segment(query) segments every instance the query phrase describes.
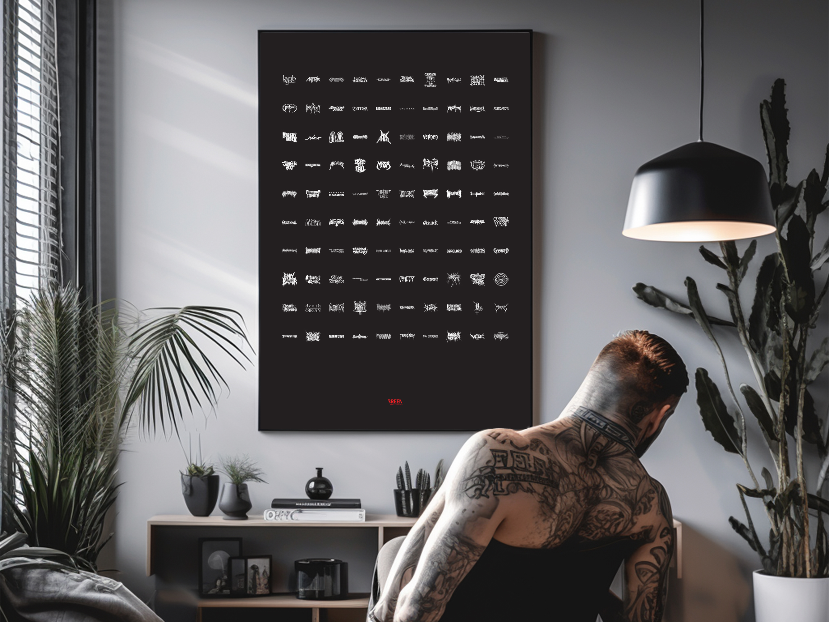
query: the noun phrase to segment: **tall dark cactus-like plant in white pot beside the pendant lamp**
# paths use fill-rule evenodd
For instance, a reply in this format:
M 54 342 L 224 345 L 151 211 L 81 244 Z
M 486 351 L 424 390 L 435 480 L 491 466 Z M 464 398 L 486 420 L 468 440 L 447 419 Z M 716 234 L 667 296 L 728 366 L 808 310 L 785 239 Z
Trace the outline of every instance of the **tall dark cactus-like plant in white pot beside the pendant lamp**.
M 797 186 L 789 184 L 785 106 L 785 83 L 777 80 L 770 100 L 760 104 L 777 220 L 777 251 L 760 265 L 748 315 L 740 285 L 754 258 L 756 241 L 742 255 L 733 241 L 721 242 L 719 255 L 700 247 L 703 259 L 725 273 L 727 283 L 716 287 L 728 300 L 730 320 L 706 313 L 691 277 L 685 281 L 687 303 L 642 283 L 633 290 L 653 307 L 696 320 L 719 357 L 725 397 L 700 367 L 696 370 L 696 401 L 705 429 L 723 449 L 743 459 L 749 474 L 750 484 L 737 484 L 745 522 L 734 517 L 729 522 L 762 562 L 762 570 L 754 573 L 758 622 L 825 622 L 829 611 L 829 430 L 826 415 L 816 411 L 809 386 L 826 370 L 829 338 L 817 347 L 809 338 L 829 289 L 829 279 L 819 274 L 829 260 L 829 240 L 820 250 L 814 248 L 817 218 L 829 207 L 829 148 L 821 174 L 813 169 Z M 754 385 L 739 385 L 742 400 L 734 391 L 728 362 L 716 338 L 720 328 L 714 327 L 736 333 L 748 357 Z M 773 472 L 764 466 L 759 477 L 749 463 L 751 419 L 773 464 Z M 806 464 L 820 466 L 807 473 Z M 768 540 L 761 537 L 762 529 L 752 518 L 750 499 L 759 502 L 768 520 Z

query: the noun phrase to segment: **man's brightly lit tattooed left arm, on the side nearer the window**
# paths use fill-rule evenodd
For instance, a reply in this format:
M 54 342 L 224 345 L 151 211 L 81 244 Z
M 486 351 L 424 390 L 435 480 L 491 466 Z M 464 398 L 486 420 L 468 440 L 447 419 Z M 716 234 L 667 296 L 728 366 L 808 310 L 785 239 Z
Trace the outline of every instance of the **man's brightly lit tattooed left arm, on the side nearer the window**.
M 411 581 L 400 589 L 394 622 L 439 620 L 454 590 L 478 561 L 502 521 L 504 513 L 499 499 L 491 491 L 481 493 L 476 484 L 481 470 L 492 467 L 489 445 L 494 442 L 486 433 L 479 432 L 458 452 L 442 488 L 443 511 L 426 538 L 419 559 L 414 560 Z M 410 568 L 412 561 L 402 561 L 402 554 L 403 551 L 395 559 L 394 576 L 390 577 L 395 583 L 404 578 L 405 567 Z M 375 618 L 391 622 L 389 617 L 375 614 Z

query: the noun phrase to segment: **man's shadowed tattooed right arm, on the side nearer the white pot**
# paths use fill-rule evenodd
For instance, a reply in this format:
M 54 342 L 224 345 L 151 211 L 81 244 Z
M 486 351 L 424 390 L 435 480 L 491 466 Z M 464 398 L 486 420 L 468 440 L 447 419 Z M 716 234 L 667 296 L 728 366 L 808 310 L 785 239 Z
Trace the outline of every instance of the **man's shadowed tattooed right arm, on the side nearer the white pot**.
M 654 480 L 659 499 L 654 508 L 652 537 L 625 562 L 624 615 L 630 622 L 660 622 L 665 612 L 668 566 L 674 550 L 671 503 Z

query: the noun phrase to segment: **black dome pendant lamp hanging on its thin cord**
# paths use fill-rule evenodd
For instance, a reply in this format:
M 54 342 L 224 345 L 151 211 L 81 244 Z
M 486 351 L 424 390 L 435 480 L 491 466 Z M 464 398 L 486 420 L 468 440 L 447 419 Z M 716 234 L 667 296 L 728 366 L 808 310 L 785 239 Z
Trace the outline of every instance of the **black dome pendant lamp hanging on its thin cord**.
M 700 0 L 700 139 L 642 164 L 633 177 L 623 236 L 713 242 L 776 231 L 768 181 L 754 158 L 702 140 L 704 0 Z

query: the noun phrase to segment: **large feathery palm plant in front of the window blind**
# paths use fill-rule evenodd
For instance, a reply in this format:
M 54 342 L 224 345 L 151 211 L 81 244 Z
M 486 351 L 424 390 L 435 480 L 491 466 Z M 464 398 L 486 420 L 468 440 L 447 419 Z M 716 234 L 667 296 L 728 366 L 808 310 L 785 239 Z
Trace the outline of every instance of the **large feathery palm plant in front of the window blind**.
M 131 328 L 117 311 L 90 307 L 74 286 L 32 294 L 5 331 L 4 388 L 16 396 L 17 493 L 4 491 L 33 547 L 95 570 L 109 537 L 120 444 L 133 415 L 140 430 L 178 435 L 185 411 L 216 405 L 227 386 L 196 336 L 243 366 L 250 345 L 231 309 L 157 309 Z M 111 534 L 110 534 L 111 537 Z

